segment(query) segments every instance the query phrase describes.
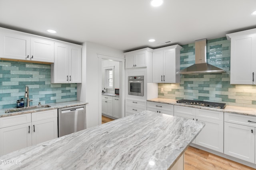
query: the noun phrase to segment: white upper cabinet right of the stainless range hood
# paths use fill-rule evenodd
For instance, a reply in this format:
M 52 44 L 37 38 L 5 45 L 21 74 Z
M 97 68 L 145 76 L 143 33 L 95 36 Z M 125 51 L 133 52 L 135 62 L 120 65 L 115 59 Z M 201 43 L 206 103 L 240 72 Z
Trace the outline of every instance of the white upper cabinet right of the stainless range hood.
M 256 84 L 256 29 L 230 33 L 230 84 Z

